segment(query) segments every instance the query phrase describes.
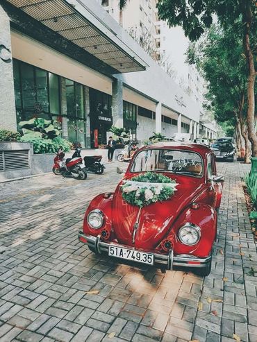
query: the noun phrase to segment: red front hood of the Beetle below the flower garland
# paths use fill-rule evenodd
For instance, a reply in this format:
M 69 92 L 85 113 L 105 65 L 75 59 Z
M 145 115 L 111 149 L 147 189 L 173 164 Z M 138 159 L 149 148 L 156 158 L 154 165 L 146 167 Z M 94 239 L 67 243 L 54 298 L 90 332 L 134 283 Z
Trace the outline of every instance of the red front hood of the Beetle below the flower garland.
M 146 207 L 130 205 L 122 198 L 122 182 L 117 186 L 113 196 L 113 230 L 117 241 L 135 248 L 156 248 L 172 227 L 172 223 L 179 214 L 204 189 L 199 178 L 176 177 L 175 194 L 163 202 L 153 203 Z M 138 212 L 140 214 L 138 215 Z M 138 217 L 138 228 L 135 234 L 135 243 L 132 242 L 133 230 Z

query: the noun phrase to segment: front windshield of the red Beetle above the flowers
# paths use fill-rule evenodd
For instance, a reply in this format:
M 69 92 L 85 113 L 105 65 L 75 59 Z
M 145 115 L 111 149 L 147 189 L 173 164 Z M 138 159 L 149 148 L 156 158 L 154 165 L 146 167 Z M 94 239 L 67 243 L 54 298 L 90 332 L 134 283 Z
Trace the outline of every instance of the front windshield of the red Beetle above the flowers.
M 199 154 L 163 148 L 141 151 L 131 164 L 131 172 L 163 171 L 201 177 L 203 170 L 203 161 Z

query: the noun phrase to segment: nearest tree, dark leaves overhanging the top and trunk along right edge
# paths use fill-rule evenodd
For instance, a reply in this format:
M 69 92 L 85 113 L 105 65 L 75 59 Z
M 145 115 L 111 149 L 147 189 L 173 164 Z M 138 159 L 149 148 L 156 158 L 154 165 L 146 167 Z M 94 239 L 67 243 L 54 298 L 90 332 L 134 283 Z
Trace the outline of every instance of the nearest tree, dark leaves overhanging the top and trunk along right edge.
M 247 65 L 247 126 L 251 141 L 252 154 L 257 157 L 257 135 L 255 127 L 254 83 L 256 69 L 257 23 L 254 13 L 256 2 L 253 0 L 159 0 L 158 16 L 167 20 L 169 26 L 182 26 L 187 37 L 193 42 L 199 40 L 206 28 L 217 16 L 223 28 L 240 21 L 242 33 L 241 46 Z

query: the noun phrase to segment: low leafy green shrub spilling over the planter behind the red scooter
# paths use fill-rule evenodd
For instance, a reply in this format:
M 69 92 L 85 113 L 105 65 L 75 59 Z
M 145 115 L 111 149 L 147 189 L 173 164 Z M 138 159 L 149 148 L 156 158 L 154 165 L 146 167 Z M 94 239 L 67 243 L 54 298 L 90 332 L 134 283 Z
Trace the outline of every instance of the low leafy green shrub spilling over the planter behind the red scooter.
M 55 153 L 59 148 L 63 148 L 64 152 L 69 152 L 72 144 L 66 139 L 56 137 L 54 139 L 43 139 L 42 137 L 21 137 L 22 142 L 31 142 L 33 144 L 34 153 Z

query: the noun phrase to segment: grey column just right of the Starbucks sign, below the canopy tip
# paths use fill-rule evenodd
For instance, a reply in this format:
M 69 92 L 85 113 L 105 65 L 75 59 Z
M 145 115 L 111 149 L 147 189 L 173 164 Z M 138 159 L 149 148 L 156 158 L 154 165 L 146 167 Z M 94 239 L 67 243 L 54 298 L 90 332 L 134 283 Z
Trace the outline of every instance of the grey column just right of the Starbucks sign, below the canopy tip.
M 122 80 L 113 80 L 113 126 L 123 128 L 123 84 Z

